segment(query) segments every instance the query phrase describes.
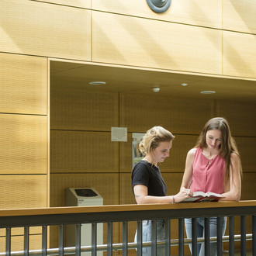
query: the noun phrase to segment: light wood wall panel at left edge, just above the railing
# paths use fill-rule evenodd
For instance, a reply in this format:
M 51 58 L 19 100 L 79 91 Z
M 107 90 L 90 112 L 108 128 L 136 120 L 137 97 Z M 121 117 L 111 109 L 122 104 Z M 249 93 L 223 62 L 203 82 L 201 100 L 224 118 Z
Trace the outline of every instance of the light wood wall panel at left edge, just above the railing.
M 47 175 L 0 175 L 1 209 L 47 207 Z

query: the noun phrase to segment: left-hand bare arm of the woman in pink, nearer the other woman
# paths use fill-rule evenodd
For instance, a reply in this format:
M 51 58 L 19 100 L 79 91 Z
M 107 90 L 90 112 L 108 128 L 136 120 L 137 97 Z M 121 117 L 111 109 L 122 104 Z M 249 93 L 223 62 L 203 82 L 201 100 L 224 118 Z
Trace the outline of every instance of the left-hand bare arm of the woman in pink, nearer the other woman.
M 185 171 L 184 171 L 184 175 L 182 178 L 182 185 L 181 185 L 181 189 L 188 189 L 190 183 L 192 182 L 192 175 L 193 175 L 193 161 L 194 161 L 194 157 L 195 157 L 195 151 L 196 148 L 192 148 L 191 150 L 189 150 L 186 160 L 185 160 Z

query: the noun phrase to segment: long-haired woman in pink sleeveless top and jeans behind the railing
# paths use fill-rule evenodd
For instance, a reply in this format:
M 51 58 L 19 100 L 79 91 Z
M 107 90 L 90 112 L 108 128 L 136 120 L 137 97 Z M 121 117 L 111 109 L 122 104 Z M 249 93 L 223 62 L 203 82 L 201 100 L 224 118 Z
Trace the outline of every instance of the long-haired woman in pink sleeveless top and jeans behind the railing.
M 215 192 L 222 200 L 240 200 L 242 166 L 240 154 L 231 136 L 227 120 L 222 117 L 209 119 L 197 144 L 189 150 L 181 189 L 192 192 Z M 210 237 L 216 237 L 216 217 L 209 218 Z M 223 217 L 223 235 L 227 217 Z M 192 220 L 185 219 L 187 237 L 192 237 Z M 197 218 L 197 236 L 204 237 L 204 218 Z M 191 246 L 190 250 L 192 249 Z M 205 255 L 204 244 L 198 244 L 197 253 Z M 210 255 L 217 255 L 217 244 L 210 243 Z

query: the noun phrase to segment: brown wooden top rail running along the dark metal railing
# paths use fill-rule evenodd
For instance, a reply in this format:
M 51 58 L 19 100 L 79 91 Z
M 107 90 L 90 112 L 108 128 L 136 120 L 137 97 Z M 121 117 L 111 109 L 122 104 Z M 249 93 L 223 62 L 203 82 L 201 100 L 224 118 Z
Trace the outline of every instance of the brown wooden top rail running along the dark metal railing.
M 109 206 L 65 206 L 29 209 L 0 209 L 2 216 L 36 216 L 53 214 L 73 214 L 73 213 L 113 213 L 113 212 L 137 212 L 164 209 L 210 209 L 210 208 L 233 208 L 256 206 L 256 200 L 244 200 L 239 202 L 186 202 L 175 204 L 147 204 L 147 205 L 109 205 Z

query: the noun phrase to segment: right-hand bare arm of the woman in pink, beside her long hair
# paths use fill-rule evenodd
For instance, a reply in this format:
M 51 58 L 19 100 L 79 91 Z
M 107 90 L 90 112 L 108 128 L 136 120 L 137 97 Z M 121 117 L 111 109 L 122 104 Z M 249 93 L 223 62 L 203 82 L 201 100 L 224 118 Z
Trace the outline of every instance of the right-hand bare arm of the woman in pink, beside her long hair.
M 232 153 L 230 156 L 230 190 L 223 193 L 224 200 L 239 201 L 241 195 L 240 157 Z

